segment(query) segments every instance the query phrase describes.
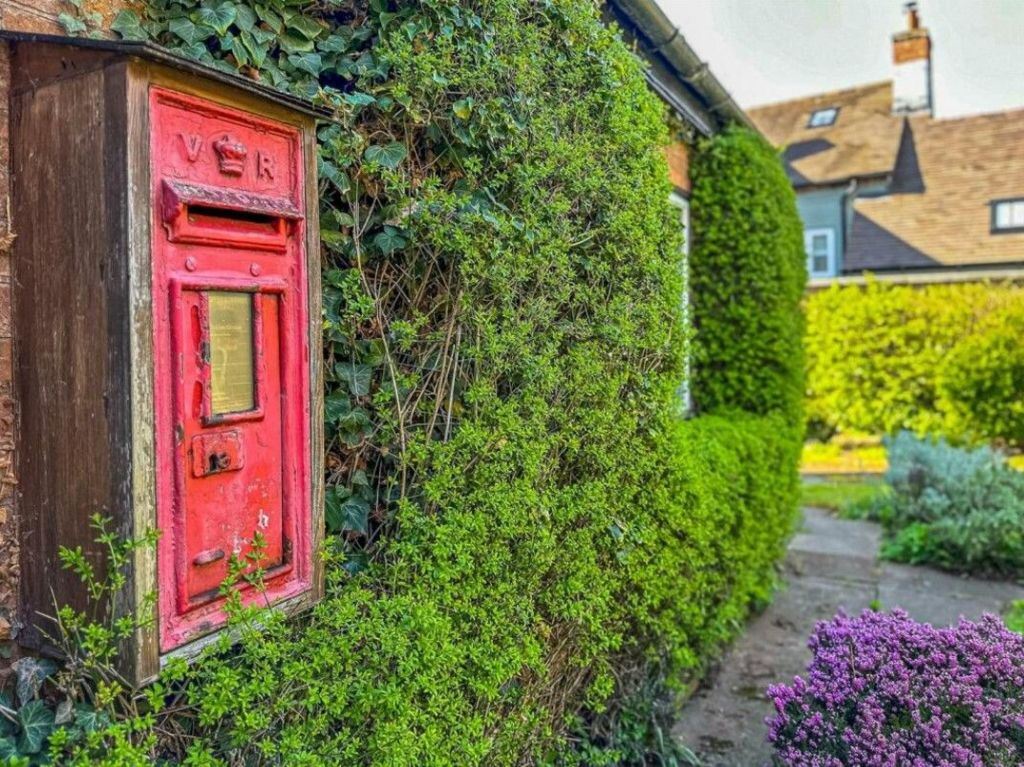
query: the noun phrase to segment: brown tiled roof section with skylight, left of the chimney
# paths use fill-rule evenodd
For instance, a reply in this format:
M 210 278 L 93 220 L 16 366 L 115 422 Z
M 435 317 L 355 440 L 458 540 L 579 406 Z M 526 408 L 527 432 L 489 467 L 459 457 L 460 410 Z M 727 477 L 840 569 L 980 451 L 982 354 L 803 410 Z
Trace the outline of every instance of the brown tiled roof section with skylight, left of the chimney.
M 892 172 L 900 139 L 892 100 L 887 81 L 756 106 L 748 114 L 768 140 L 783 147 L 790 179 L 800 187 Z M 839 109 L 833 125 L 808 127 L 815 111 L 829 108 Z

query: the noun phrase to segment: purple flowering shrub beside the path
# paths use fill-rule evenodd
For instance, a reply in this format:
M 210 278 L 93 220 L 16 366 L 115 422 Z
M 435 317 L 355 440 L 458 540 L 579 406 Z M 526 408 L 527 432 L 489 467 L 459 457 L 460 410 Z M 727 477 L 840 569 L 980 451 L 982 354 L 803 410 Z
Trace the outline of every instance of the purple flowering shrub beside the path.
M 902 610 L 817 625 L 808 677 L 773 685 L 775 763 L 1024 765 L 1024 637 L 993 615 L 934 629 Z

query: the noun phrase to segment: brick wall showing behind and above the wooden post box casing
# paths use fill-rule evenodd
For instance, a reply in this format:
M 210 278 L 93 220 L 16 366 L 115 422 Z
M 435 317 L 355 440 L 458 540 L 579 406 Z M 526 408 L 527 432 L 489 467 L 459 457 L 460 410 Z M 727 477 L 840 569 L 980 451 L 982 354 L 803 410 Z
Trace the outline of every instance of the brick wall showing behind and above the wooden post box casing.
M 91 0 L 90 11 L 110 19 L 127 3 L 121 0 Z M 57 15 L 71 10 L 66 0 L 0 0 L 0 29 L 18 32 L 65 34 Z M 17 403 L 13 399 L 11 328 L 10 238 L 9 228 L 10 147 L 9 147 L 10 61 L 5 44 L 0 44 L 0 657 L 12 649 L 9 640 L 17 634 L 18 539 L 15 508 L 16 477 L 14 451 L 17 448 Z

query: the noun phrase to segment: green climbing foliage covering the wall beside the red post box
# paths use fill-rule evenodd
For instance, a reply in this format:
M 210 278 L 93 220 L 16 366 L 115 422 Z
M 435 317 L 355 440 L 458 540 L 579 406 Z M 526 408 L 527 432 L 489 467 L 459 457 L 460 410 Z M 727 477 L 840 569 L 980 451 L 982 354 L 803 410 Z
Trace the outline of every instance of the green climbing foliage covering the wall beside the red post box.
M 146 698 L 167 711 L 79 753 L 462 767 L 664 749 L 635 713 L 767 598 L 795 508 L 798 223 L 788 187 L 755 177 L 781 178 L 777 158 L 731 131 L 695 164 L 716 258 L 717 211 L 739 205 L 757 215 L 731 236 L 780 260 L 731 272 L 742 312 L 715 326 L 731 304 L 699 305 L 701 359 L 729 384 L 701 399 L 721 415 L 684 423 L 665 110 L 595 4 L 151 0 L 115 28 L 337 110 L 319 131 L 332 535 L 309 614 L 242 611 L 233 647 Z M 716 181 L 722 153 L 755 173 Z M 731 355 L 749 328 L 761 342 Z

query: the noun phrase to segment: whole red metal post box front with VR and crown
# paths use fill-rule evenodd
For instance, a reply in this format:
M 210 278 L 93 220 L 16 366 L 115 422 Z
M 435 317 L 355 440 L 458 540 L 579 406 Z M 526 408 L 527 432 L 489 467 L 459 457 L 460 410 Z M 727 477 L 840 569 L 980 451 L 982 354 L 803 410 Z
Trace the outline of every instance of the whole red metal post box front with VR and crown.
M 152 88 L 160 649 L 312 588 L 311 393 L 297 128 Z

